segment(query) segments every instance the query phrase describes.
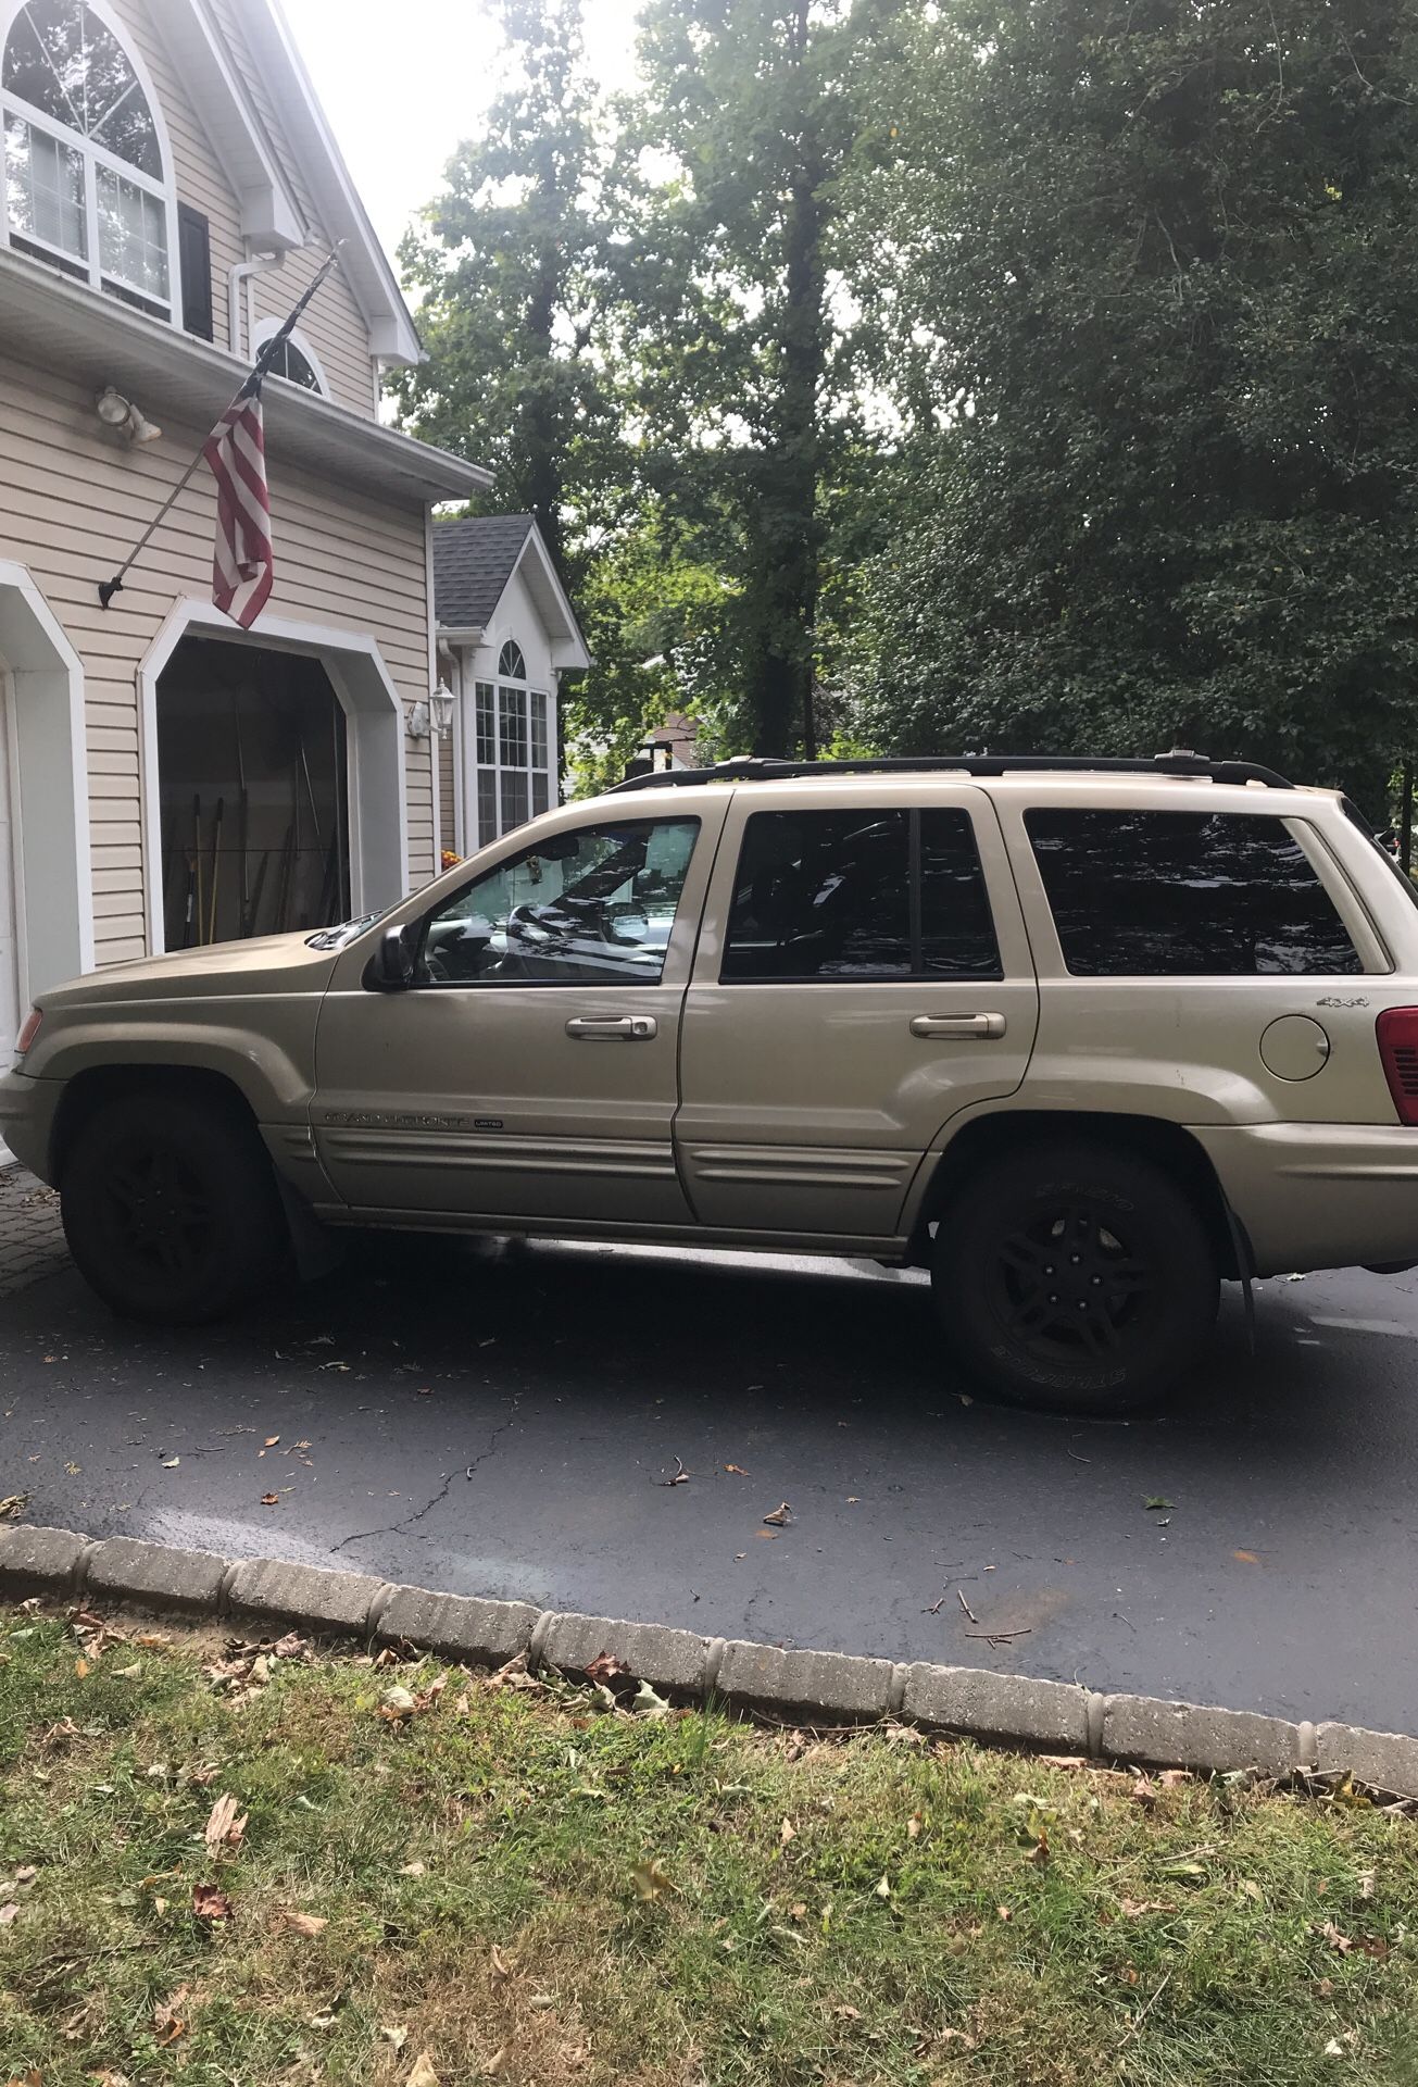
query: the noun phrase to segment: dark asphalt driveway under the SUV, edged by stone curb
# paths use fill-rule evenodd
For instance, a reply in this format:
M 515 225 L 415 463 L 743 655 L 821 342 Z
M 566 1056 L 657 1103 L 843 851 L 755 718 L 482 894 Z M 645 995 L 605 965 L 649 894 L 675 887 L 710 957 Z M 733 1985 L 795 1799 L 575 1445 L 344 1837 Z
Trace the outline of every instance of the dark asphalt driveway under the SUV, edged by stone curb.
M 913 1275 L 369 1240 L 219 1332 L 121 1325 L 71 1269 L 0 1298 L 0 1494 L 96 1536 L 1418 1732 L 1416 1365 L 1418 1275 L 1270 1281 L 1253 1359 L 1226 1292 L 1166 1413 L 1061 1421 L 972 1398 Z

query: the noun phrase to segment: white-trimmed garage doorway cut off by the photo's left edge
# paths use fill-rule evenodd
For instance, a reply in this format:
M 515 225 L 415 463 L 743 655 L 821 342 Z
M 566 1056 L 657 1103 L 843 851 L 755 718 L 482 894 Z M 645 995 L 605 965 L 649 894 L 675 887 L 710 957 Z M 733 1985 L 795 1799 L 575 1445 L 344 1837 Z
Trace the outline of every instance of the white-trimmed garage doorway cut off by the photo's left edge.
M 0 559 L 0 666 L 10 691 L 21 1002 L 94 968 L 83 668 L 23 566 Z

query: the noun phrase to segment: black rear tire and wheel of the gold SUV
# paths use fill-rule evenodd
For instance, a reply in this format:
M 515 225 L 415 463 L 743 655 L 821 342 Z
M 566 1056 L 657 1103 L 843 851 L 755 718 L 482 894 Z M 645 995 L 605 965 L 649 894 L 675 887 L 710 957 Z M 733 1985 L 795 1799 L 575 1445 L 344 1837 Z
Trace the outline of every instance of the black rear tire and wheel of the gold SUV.
M 930 1279 L 972 1375 L 1055 1413 L 1151 1405 L 1216 1323 L 1193 1198 L 1151 1160 L 1084 1140 L 974 1173 L 936 1227 Z

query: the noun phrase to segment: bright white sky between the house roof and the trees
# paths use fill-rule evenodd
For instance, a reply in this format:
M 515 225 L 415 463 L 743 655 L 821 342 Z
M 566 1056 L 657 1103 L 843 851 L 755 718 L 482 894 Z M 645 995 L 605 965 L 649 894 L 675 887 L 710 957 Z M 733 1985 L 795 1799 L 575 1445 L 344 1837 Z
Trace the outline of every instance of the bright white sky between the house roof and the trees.
M 354 186 L 392 255 L 438 192 L 498 81 L 500 33 L 480 0 L 284 0 Z M 586 56 L 630 86 L 636 0 L 586 0 Z

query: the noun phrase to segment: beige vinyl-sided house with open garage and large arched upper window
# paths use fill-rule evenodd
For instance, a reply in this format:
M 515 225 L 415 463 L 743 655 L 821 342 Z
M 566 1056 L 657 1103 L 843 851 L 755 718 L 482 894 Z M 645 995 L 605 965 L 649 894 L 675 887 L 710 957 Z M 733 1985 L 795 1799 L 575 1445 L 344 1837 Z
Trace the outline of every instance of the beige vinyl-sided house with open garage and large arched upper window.
M 31 991 L 398 897 L 440 849 L 419 342 L 275 0 L 0 0 L 0 1035 Z M 211 603 L 202 465 L 265 384 L 275 591 Z M 100 413 L 102 399 L 102 413 Z M 438 710 L 438 705 L 434 705 Z

